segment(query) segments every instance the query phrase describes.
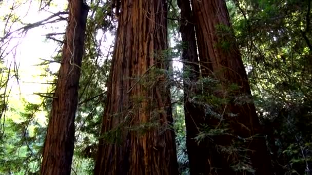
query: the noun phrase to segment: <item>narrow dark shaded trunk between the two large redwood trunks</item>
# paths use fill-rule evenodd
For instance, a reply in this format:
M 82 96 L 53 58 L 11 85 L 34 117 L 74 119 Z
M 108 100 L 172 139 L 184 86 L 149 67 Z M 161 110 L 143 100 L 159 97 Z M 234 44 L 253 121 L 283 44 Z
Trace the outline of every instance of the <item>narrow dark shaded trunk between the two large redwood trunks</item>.
M 183 42 L 183 84 L 184 84 L 184 115 L 186 125 L 186 146 L 190 174 L 200 174 L 205 168 L 209 170 L 206 161 L 208 151 L 206 145 L 198 143 L 194 138 L 199 134 L 198 124 L 205 123 L 204 107 L 194 101 L 201 94 L 200 64 L 197 54 L 195 26 L 188 0 L 178 0 L 181 9 L 180 33 Z

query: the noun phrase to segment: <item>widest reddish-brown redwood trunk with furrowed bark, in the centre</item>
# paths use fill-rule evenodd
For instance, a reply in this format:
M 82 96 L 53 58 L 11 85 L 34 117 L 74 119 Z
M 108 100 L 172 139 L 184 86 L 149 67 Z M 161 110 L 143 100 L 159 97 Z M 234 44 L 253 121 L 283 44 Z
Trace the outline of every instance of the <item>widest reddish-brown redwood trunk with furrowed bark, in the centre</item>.
M 120 9 L 94 174 L 178 174 L 166 1 L 125 0 Z

